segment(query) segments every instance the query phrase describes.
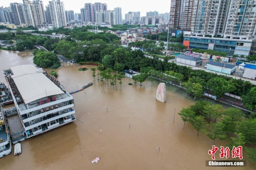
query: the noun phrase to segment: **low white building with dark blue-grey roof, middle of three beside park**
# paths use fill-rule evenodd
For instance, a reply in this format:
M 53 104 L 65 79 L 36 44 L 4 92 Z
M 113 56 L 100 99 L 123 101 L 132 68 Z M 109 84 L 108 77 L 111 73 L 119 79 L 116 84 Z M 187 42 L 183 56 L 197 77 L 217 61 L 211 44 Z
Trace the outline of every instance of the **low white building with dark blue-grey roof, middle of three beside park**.
M 209 61 L 207 63 L 207 70 L 222 72 L 224 74 L 232 74 L 236 71 L 236 66 L 232 64 L 219 63 L 216 61 Z

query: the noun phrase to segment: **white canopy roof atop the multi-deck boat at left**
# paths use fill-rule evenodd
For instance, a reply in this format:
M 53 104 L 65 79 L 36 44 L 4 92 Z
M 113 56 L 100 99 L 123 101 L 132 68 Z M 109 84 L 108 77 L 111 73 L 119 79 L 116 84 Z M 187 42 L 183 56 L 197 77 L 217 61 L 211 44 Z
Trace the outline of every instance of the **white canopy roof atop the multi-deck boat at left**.
M 48 79 L 42 72 L 38 72 L 36 66 L 22 65 L 10 68 L 12 70 L 12 78 L 22 96 L 25 104 L 64 92 Z

